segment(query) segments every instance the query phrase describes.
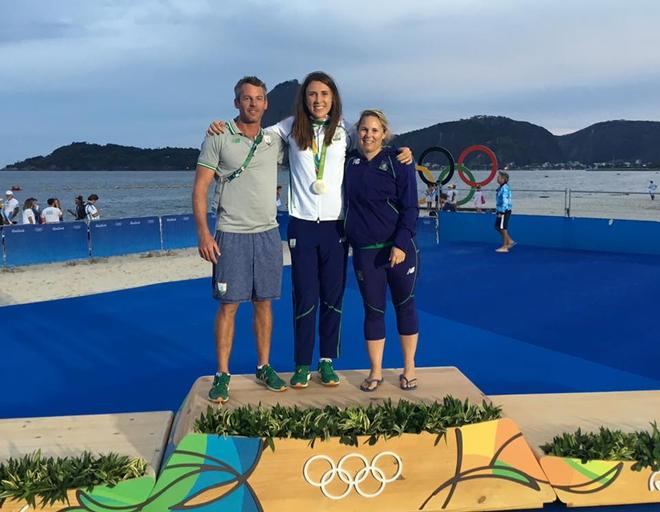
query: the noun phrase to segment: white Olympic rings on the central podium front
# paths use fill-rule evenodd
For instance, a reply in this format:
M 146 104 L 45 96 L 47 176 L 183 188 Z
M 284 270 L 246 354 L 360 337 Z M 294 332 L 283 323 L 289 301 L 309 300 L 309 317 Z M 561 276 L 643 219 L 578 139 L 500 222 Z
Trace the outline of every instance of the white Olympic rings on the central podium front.
M 378 462 L 383 457 L 391 457 L 392 460 L 396 463 L 396 472 L 390 477 L 386 477 L 385 472 L 380 467 L 378 467 Z M 351 459 L 358 459 L 363 465 L 363 467 L 359 469 L 354 475 L 344 469 L 344 464 L 346 464 L 346 462 Z M 312 478 L 309 476 L 309 468 L 316 461 L 326 462 L 329 466 L 328 470 L 323 473 L 323 475 L 321 475 L 321 478 L 318 481 L 312 480 Z M 375 498 L 385 490 L 385 486 L 387 484 L 392 483 L 397 478 L 399 478 L 402 472 L 403 462 L 401 461 L 401 458 L 394 452 L 379 453 L 373 459 L 371 459 L 371 462 L 369 462 L 364 455 L 359 453 L 349 453 L 339 459 L 338 464 L 335 464 L 335 462 L 327 455 L 315 455 L 308 459 L 303 466 L 303 477 L 305 478 L 305 482 L 321 489 L 323 495 L 326 498 L 330 498 L 331 500 L 341 500 L 348 496 L 353 489 L 355 489 L 355 492 L 357 492 L 363 498 Z M 364 491 L 364 489 L 360 487 L 360 484 L 363 483 L 369 477 L 369 475 L 371 475 L 371 477 L 380 484 L 378 489 L 371 493 Z M 328 490 L 328 486 L 335 480 L 335 477 L 346 484 L 346 489 L 342 494 L 339 495 L 332 494 Z

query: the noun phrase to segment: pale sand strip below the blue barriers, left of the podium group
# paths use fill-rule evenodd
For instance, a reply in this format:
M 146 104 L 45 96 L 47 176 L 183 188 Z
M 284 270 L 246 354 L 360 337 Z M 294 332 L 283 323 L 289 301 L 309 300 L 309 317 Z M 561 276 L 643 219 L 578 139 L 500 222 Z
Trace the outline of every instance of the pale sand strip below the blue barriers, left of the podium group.
M 282 244 L 284 264 L 289 250 Z M 197 248 L 0 270 L 0 306 L 28 304 L 211 276 Z

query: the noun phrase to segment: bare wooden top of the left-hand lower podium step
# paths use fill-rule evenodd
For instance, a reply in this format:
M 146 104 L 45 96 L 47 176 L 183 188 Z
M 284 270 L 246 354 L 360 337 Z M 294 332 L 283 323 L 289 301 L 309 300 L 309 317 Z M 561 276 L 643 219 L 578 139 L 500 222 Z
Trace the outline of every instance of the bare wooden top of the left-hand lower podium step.
M 157 471 L 172 417 L 166 411 L 0 420 L 0 460 L 36 450 L 47 457 L 115 452 L 141 457 Z

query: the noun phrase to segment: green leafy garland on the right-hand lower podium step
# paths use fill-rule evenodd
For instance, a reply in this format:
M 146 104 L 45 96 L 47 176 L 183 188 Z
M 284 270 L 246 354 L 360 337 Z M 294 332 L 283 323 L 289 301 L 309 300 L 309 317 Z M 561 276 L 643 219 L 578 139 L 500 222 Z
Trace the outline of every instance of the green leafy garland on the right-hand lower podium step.
M 635 461 L 632 469 L 643 468 L 660 470 L 660 430 L 655 422 L 650 431 L 624 433 L 601 427 L 596 432 L 564 433 L 543 446 L 548 455 L 580 459 L 582 463 L 590 460 Z

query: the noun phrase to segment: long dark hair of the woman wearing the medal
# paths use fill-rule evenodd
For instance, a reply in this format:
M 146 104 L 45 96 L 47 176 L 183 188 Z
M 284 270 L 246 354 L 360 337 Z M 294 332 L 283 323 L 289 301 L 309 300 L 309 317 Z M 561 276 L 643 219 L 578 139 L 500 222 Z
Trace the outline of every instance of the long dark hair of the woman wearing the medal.
M 323 71 L 314 71 L 305 77 L 296 101 L 293 105 L 293 128 L 291 133 L 293 138 L 298 144 L 298 147 L 303 151 L 312 146 L 312 122 L 309 119 L 312 113 L 307 109 L 307 102 L 305 96 L 307 95 L 307 87 L 312 82 L 321 82 L 327 85 L 332 91 L 332 108 L 330 109 L 330 121 L 325 130 L 325 137 L 323 142 L 326 146 L 332 144 L 332 138 L 335 136 L 335 130 L 341 121 L 341 97 L 339 96 L 339 89 L 335 81 Z

